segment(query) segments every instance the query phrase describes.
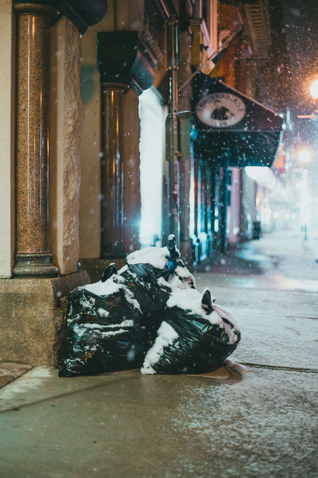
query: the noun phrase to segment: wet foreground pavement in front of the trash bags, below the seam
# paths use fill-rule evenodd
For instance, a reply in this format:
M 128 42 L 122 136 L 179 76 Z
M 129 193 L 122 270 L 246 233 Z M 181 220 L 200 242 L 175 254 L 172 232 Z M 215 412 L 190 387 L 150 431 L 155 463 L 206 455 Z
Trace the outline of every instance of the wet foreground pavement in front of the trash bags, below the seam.
M 1 392 L 1 476 L 317 477 L 317 375 L 242 374 L 28 372 Z

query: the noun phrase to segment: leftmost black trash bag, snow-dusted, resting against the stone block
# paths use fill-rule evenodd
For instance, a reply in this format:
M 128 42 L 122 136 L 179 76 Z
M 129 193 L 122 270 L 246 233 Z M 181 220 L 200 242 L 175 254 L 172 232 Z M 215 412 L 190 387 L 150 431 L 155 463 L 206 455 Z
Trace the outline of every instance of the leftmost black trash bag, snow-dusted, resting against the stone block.
M 70 294 L 60 377 L 139 368 L 144 360 L 140 306 L 114 265 L 107 273 Z

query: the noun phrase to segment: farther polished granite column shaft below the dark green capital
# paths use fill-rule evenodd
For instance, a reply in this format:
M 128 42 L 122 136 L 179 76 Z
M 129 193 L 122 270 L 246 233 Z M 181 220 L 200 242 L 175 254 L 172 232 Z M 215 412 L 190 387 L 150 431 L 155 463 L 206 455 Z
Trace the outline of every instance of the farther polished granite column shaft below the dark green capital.
M 128 85 L 102 87 L 101 257 L 125 257 L 123 242 L 123 95 Z

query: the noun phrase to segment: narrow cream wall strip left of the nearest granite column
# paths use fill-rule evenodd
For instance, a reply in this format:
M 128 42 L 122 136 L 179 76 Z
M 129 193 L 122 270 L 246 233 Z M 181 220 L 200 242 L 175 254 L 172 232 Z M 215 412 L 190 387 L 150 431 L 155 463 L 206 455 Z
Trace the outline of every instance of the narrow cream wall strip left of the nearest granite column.
M 15 14 L 0 9 L 0 278 L 10 277 L 15 251 Z

